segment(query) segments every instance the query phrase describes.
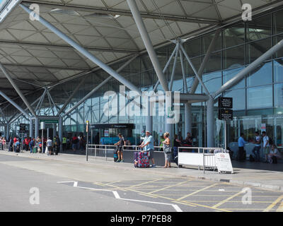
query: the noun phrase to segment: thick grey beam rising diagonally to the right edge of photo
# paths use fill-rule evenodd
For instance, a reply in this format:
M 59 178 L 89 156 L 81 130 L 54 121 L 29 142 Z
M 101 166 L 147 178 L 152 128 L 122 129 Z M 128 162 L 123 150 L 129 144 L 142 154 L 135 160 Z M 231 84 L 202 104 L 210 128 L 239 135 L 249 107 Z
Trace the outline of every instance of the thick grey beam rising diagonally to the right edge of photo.
M 236 76 L 231 78 L 231 80 L 227 81 L 224 85 L 219 88 L 214 95 L 212 95 L 214 98 L 223 93 L 225 90 L 231 88 L 233 85 L 236 85 L 239 81 L 241 81 L 248 73 L 252 72 L 253 70 L 257 69 L 260 64 L 262 64 L 265 60 L 270 58 L 273 54 L 275 54 L 279 49 L 283 47 L 283 40 L 275 44 L 274 47 L 269 49 L 265 54 L 262 54 L 262 56 L 258 57 L 255 61 L 253 61 L 252 64 L 246 67 L 246 69 L 243 69 L 240 71 Z

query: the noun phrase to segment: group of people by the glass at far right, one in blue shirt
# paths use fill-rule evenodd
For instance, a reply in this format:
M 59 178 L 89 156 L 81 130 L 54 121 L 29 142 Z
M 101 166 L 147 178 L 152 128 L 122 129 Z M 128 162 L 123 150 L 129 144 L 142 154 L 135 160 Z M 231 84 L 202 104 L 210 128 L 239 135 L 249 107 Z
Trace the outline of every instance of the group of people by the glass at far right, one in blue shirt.
M 277 159 L 280 158 L 281 155 L 277 146 L 273 143 L 272 138 L 267 136 L 265 131 L 262 132 L 262 136 L 256 131 L 252 142 L 255 144 L 255 147 L 253 148 L 255 162 L 260 162 L 260 148 L 262 145 L 264 155 L 263 162 L 277 163 Z M 245 141 L 244 134 L 241 133 L 241 136 L 238 138 L 238 161 L 246 160 L 246 151 L 244 150 L 246 143 L 248 143 L 248 141 Z

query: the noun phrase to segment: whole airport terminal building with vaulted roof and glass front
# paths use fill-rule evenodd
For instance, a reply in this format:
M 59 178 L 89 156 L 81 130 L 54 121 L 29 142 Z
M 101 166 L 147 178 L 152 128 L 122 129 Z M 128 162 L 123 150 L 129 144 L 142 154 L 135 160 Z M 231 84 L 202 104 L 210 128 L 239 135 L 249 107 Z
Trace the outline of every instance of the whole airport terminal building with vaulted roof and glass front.
M 39 136 L 40 121 L 61 138 L 86 134 L 89 121 L 91 142 L 98 132 L 124 133 L 137 144 L 149 130 L 156 141 L 165 131 L 191 132 L 195 146 L 220 147 L 217 100 L 233 97 L 227 143 L 267 131 L 282 146 L 282 1 L 248 1 L 251 20 L 243 20 L 241 0 L 16 1 L 4 15 L 5 2 L 0 132 L 7 138 L 21 136 L 20 124 Z M 40 20 L 30 19 L 30 4 L 40 6 Z M 109 91 L 117 96 L 106 98 Z M 167 96 L 164 105 L 149 101 L 152 114 L 127 114 L 142 91 L 178 93 L 178 121 L 166 123 Z

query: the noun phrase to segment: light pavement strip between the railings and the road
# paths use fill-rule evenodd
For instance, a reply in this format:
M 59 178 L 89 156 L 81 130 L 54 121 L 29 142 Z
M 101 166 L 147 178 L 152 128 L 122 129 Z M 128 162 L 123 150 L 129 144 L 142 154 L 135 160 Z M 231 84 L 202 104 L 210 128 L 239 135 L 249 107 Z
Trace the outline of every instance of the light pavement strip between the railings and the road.
M 107 173 L 109 169 L 112 169 L 112 179 L 113 181 L 117 178 L 123 179 L 136 179 L 137 178 L 137 171 L 141 170 L 143 172 L 144 178 L 149 179 L 151 177 L 156 177 L 156 175 L 160 175 L 161 177 L 188 177 L 194 179 L 206 179 L 212 182 L 227 182 L 234 185 L 241 185 L 241 186 L 254 186 L 260 187 L 262 189 L 268 189 L 270 191 L 283 191 L 283 174 L 282 172 L 272 171 L 271 169 L 247 169 L 246 165 L 249 165 L 249 162 L 241 162 L 238 163 L 242 167 L 233 167 L 234 173 L 233 174 L 219 174 L 218 172 L 214 172 L 212 170 L 206 170 L 205 173 L 202 170 L 198 169 L 190 169 L 187 167 L 178 168 L 175 163 L 172 163 L 172 168 L 163 167 L 155 167 L 149 169 L 135 169 L 132 163 L 127 162 L 113 162 L 112 157 L 108 157 L 107 160 L 105 157 L 88 157 L 88 162 L 86 162 L 86 156 L 84 155 L 71 155 L 71 154 L 62 154 L 59 155 L 45 155 L 39 153 L 8 153 L 6 151 L 0 151 L 0 155 L 13 155 L 18 157 L 28 157 L 32 159 L 41 159 L 41 160 L 50 160 L 52 162 L 75 162 L 78 163 L 80 166 L 88 168 L 81 172 L 79 169 L 74 170 L 67 170 L 64 171 L 65 173 L 62 175 L 64 177 L 76 178 L 79 181 L 83 182 L 93 182 L 91 170 L 97 170 L 98 174 L 96 174 L 96 180 L 102 179 L 106 177 L 104 174 L 107 169 Z M 267 163 L 258 163 L 266 166 Z M 270 165 L 268 165 L 270 166 Z M 36 168 L 36 165 L 33 167 Z M 43 167 L 43 166 L 40 166 Z M 270 166 L 272 167 L 272 165 Z M 45 170 L 45 169 L 40 169 Z M 57 169 L 54 169 L 54 172 L 51 172 L 54 175 L 57 175 Z M 68 174 L 70 172 L 70 174 Z M 125 173 L 125 174 L 124 174 Z M 107 176 L 108 177 L 108 176 Z M 142 178 L 141 178 L 142 179 Z

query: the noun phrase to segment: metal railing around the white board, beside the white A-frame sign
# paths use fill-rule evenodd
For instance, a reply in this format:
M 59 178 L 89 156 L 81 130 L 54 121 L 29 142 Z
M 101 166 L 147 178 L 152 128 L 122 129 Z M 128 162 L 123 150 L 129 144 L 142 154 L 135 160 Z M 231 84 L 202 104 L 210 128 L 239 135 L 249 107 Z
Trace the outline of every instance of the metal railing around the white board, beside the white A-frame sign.
M 188 150 L 188 151 L 181 151 L 182 150 Z M 191 152 L 190 152 L 191 150 Z M 195 153 L 195 150 L 197 152 Z M 192 154 L 202 154 L 202 165 L 197 165 L 198 169 L 200 170 L 200 167 L 203 167 L 203 172 L 205 173 L 205 168 L 214 168 L 216 169 L 215 165 L 215 154 L 216 153 L 224 153 L 224 148 L 203 148 L 203 147 L 178 147 L 178 156 L 180 153 L 192 153 Z

